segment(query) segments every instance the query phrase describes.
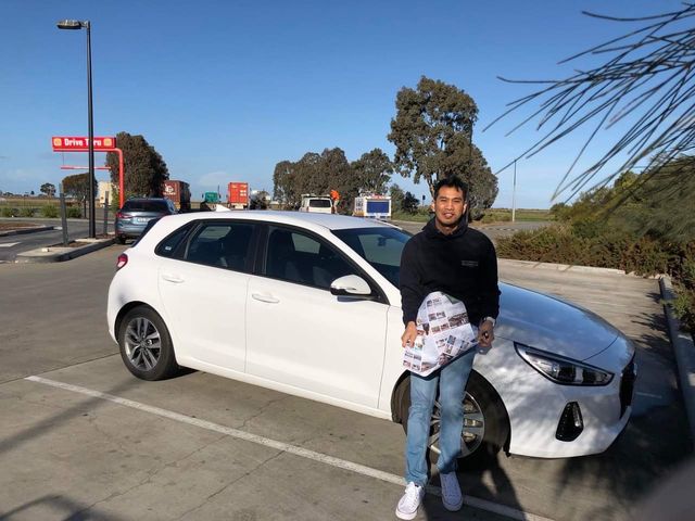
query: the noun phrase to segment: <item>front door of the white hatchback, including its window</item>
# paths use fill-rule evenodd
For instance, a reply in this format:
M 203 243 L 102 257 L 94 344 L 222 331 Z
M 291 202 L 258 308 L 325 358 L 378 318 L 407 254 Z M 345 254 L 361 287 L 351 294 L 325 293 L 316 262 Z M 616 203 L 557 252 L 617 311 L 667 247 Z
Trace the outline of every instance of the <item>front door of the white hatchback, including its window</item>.
M 249 281 L 247 372 L 376 408 L 389 306 L 332 295 L 336 278 L 366 276 L 315 234 L 270 226 L 264 252 Z

